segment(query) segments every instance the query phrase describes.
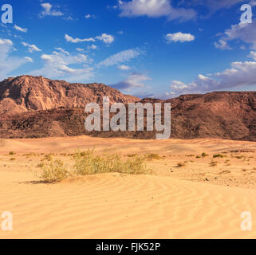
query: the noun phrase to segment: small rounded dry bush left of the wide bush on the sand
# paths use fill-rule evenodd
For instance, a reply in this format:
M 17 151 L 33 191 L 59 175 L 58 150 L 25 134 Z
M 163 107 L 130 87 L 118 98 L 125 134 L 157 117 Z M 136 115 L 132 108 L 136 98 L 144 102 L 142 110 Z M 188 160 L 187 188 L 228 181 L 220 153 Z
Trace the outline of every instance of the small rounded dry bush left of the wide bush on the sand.
M 69 177 L 69 171 L 61 160 L 51 159 L 48 163 L 41 165 L 41 172 L 37 176 L 44 182 L 61 182 Z

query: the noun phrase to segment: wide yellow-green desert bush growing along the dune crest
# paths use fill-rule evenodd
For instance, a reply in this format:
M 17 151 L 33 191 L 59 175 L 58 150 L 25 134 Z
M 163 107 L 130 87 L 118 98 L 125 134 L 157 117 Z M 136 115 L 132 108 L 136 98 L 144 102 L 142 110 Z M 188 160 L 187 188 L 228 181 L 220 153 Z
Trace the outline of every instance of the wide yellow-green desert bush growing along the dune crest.
M 120 155 L 97 155 L 94 150 L 88 150 L 84 153 L 75 153 L 74 160 L 75 175 L 95 175 L 110 172 L 128 175 L 148 173 L 144 159 L 138 156 L 123 162 Z

